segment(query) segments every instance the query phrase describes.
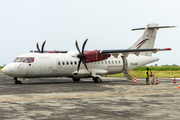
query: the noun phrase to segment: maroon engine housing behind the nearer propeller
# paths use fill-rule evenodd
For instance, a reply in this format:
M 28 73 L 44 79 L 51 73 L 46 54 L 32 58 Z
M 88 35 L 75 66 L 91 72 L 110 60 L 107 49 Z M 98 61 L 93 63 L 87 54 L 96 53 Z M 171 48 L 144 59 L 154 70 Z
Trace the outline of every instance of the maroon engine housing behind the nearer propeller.
M 87 63 L 105 60 L 111 56 L 107 53 L 100 53 L 100 50 L 86 51 L 84 54 Z

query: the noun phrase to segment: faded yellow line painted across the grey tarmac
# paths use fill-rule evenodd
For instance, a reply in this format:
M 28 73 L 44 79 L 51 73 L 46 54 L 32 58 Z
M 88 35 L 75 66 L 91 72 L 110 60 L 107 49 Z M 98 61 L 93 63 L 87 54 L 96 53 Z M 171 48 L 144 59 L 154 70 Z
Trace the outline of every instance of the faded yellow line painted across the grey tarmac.
M 177 88 L 178 89 L 178 88 Z M 4 101 L 25 101 L 25 100 L 41 100 L 41 99 L 55 99 L 55 98 L 82 98 L 82 97 L 100 97 L 100 96 L 123 96 L 123 95 L 142 95 L 142 94 L 160 94 L 160 93 L 173 93 L 180 92 L 180 89 L 174 91 L 147 91 L 147 92 L 133 92 L 133 93 L 107 93 L 107 94 L 88 94 L 88 95 L 69 95 L 69 96 L 52 96 L 52 97 L 32 97 L 32 98 L 13 98 L 13 99 L 0 99 Z

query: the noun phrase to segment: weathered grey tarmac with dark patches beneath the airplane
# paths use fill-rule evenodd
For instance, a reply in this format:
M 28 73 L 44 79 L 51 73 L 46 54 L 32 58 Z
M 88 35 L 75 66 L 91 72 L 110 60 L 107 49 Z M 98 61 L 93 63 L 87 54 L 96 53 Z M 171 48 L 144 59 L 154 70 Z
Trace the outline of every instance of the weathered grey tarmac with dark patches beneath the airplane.
M 150 79 L 151 81 L 151 79 Z M 71 78 L 36 78 L 14 84 L 0 73 L 0 120 L 180 119 L 179 80 L 145 85 L 103 77 L 101 83 Z

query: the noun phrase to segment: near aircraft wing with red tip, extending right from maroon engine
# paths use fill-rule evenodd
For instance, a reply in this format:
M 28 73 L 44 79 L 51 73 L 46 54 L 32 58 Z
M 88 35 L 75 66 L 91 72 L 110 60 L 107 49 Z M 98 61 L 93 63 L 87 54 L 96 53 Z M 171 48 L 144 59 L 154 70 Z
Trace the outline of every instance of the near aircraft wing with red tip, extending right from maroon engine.
M 167 51 L 167 50 L 171 50 L 171 48 L 151 48 L 151 49 L 116 49 L 116 50 L 101 50 L 100 53 L 109 53 L 112 54 L 114 57 L 118 57 L 118 55 L 121 53 L 124 56 L 128 56 L 129 53 L 133 53 L 137 56 L 139 56 L 139 54 L 141 52 L 153 52 L 156 53 L 158 51 Z

